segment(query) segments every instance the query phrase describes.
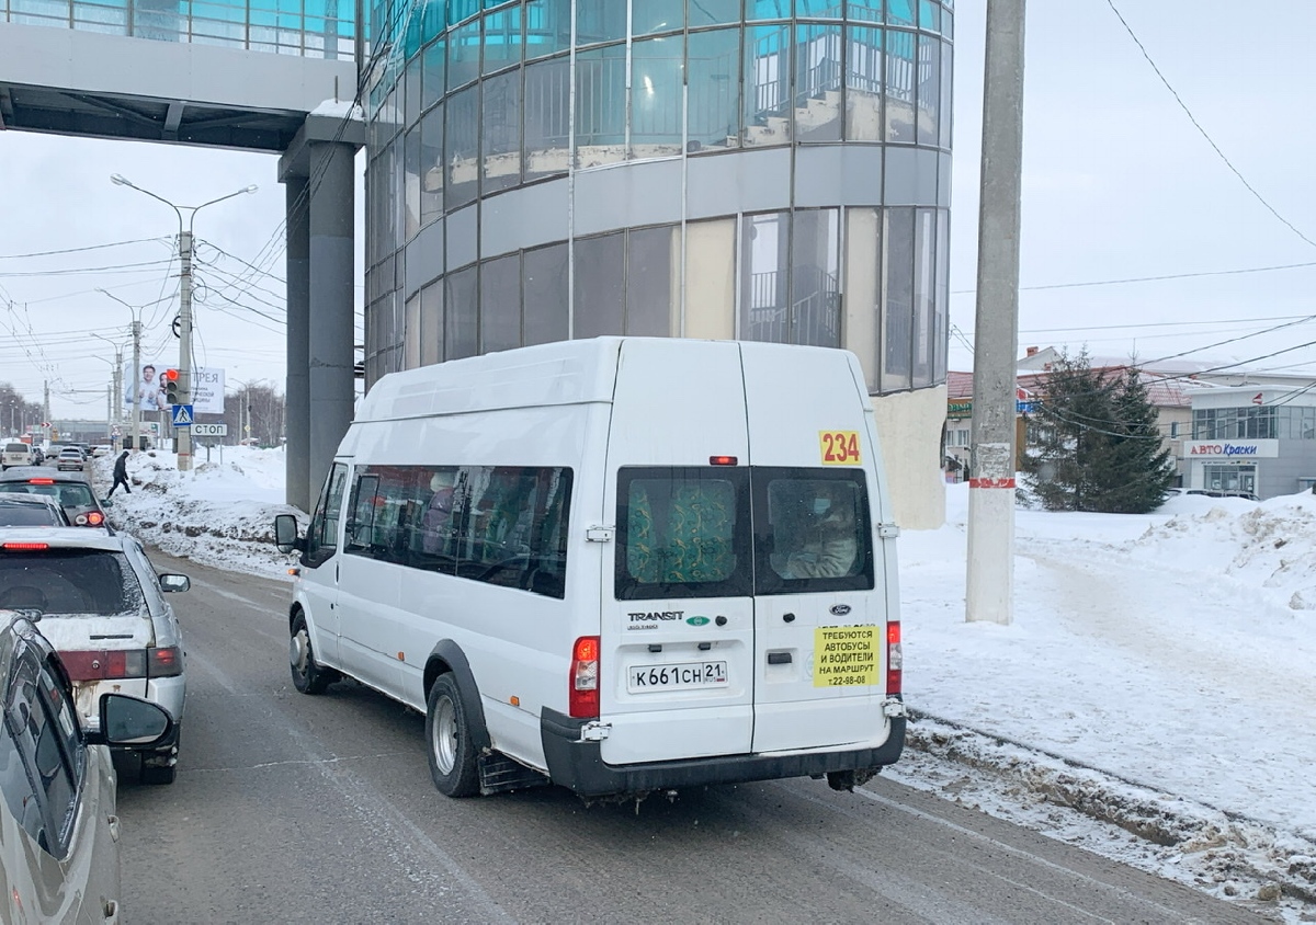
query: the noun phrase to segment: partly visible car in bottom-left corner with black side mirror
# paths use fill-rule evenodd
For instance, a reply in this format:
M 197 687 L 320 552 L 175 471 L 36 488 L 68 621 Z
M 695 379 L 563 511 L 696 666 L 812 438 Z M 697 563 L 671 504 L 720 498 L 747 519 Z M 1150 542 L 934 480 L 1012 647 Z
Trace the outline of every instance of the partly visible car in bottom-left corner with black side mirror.
M 28 616 L 0 611 L 0 920 L 117 922 L 120 838 L 107 745 L 154 745 L 168 713 L 122 693 L 78 721 L 68 674 Z

